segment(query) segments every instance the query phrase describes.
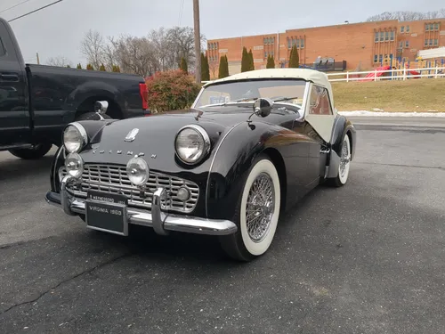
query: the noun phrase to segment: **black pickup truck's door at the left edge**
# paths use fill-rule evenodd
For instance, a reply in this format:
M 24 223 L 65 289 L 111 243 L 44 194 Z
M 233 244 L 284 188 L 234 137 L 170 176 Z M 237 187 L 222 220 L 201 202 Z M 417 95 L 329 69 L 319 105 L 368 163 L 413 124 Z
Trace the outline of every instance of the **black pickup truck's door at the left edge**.
M 0 144 L 22 143 L 28 134 L 28 94 L 22 64 L 0 21 Z

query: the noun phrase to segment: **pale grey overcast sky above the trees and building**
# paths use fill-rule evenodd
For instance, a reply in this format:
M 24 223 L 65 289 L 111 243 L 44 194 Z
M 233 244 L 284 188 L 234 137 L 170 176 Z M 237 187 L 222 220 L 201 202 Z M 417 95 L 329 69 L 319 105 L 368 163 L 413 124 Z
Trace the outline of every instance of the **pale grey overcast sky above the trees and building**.
M 0 16 L 6 20 L 55 0 L 0 0 Z M 63 0 L 59 4 L 11 22 L 25 61 L 41 63 L 63 55 L 74 64 L 85 59 L 79 44 L 88 29 L 104 36 L 145 35 L 151 29 L 193 26 L 192 0 Z M 365 7 L 366 5 L 366 7 Z M 286 29 L 359 22 L 380 12 L 433 11 L 443 0 L 201 0 L 201 33 L 206 38 L 237 37 Z M 266 9 L 267 8 L 267 9 Z

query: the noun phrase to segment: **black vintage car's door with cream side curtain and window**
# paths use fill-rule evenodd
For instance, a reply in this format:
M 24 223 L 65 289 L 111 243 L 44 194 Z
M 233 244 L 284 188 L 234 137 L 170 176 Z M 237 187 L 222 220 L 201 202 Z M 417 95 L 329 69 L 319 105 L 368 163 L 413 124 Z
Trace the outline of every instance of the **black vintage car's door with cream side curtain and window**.
M 326 87 L 311 84 L 304 118 L 311 128 L 308 135 L 314 140 L 309 147 L 308 163 L 311 177 L 315 180 L 324 175 L 327 143 L 330 143 L 336 119 Z

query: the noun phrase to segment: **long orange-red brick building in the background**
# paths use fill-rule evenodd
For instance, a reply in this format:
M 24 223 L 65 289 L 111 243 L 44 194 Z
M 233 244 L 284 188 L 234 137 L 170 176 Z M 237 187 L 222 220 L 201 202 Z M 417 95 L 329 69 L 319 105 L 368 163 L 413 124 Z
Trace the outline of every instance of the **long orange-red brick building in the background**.
M 445 46 L 445 19 L 385 20 L 284 33 L 232 37 L 207 41 L 210 75 L 218 75 L 219 59 L 227 54 L 230 74 L 239 73 L 243 46 L 252 49 L 255 69 L 264 69 L 272 54 L 276 67 L 287 67 L 290 49 L 296 45 L 300 64 L 312 66 L 317 57 L 346 61 L 346 69 L 366 70 L 379 66 L 384 57 L 415 61 L 417 52 Z

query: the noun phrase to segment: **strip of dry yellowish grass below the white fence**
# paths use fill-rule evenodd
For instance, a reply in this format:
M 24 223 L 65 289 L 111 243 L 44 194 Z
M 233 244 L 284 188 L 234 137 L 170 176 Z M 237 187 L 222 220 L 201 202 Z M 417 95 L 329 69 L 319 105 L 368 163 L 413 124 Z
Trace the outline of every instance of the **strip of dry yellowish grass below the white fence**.
M 445 111 L 445 78 L 333 82 L 339 111 Z

